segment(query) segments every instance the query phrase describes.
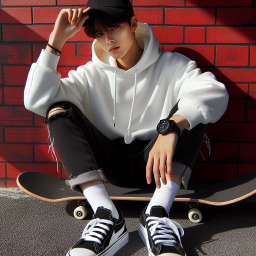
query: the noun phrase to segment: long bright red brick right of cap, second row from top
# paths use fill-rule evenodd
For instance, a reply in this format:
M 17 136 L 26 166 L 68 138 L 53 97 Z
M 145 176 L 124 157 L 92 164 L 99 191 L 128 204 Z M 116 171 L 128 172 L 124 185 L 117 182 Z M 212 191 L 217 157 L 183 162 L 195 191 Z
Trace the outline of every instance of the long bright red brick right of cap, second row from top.
M 215 23 L 213 8 L 167 8 L 165 23 L 171 25 L 210 25 Z

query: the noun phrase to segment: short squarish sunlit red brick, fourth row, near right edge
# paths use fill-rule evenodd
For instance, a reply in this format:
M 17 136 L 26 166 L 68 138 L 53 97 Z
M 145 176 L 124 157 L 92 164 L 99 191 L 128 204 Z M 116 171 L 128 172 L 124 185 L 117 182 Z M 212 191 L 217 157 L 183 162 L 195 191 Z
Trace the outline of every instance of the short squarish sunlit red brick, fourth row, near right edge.
M 216 49 L 217 66 L 248 65 L 248 46 L 218 45 Z

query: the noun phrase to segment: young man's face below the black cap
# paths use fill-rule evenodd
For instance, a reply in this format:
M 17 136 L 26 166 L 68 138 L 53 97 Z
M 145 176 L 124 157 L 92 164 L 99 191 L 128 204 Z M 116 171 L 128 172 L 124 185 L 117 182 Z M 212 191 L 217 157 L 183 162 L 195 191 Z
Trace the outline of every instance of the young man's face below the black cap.
M 132 18 L 133 19 L 133 18 Z M 131 19 L 131 20 L 132 20 Z M 115 59 L 122 59 L 134 44 L 134 31 L 137 23 L 120 23 L 102 30 L 97 24 L 94 28 L 97 31 L 95 36 L 101 48 Z

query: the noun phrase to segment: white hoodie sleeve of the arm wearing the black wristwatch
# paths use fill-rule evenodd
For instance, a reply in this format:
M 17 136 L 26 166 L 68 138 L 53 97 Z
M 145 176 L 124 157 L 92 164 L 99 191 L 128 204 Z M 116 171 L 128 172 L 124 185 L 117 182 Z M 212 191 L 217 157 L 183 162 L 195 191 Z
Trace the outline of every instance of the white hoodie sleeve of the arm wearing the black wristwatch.
M 202 73 L 196 62 L 190 60 L 174 84 L 178 102 L 176 114 L 181 114 L 190 123 L 188 129 L 198 123 L 216 122 L 224 113 L 228 93 L 223 83 L 211 72 Z

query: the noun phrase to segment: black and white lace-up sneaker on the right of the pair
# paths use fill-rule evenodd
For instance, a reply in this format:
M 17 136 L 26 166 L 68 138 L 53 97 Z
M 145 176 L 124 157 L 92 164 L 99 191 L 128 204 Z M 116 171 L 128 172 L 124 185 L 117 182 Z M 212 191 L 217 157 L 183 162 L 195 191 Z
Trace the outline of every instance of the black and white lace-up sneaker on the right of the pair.
M 146 207 L 141 212 L 138 233 L 148 249 L 149 256 L 187 256 L 180 236 L 183 228 L 168 218 L 162 206 L 153 206 L 150 215 L 145 214 Z

